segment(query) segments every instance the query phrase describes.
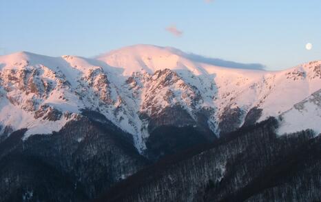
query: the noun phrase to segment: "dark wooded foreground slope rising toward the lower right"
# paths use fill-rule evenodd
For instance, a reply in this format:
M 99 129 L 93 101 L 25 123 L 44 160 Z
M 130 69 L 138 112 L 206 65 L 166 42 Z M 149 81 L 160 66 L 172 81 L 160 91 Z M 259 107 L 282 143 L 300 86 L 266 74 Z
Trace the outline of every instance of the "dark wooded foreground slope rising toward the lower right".
M 320 137 L 277 137 L 276 119 L 156 163 L 100 201 L 320 201 Z

